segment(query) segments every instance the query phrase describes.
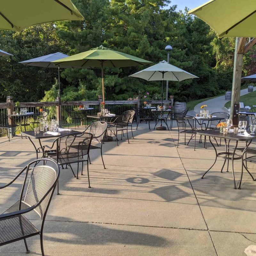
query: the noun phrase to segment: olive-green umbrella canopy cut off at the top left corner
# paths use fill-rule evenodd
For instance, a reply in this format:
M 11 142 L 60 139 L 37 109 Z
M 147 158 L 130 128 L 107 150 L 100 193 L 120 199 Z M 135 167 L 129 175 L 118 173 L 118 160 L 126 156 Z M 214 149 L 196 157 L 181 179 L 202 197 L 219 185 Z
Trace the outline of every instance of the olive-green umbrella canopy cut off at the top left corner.
M 0 29 L 19 32 L 32 25 L 60 20 L 84 20 L 84 17 L 71 0 L 1 1 Z

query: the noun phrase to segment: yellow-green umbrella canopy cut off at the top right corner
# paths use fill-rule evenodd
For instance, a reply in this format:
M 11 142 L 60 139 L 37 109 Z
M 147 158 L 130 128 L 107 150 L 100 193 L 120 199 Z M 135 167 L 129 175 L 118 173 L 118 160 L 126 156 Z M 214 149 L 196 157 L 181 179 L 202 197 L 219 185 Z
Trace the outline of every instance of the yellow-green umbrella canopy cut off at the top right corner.
M 256 37 L 255 0 L 211 0 L 188 13 L 204 20 L 219 37 Z

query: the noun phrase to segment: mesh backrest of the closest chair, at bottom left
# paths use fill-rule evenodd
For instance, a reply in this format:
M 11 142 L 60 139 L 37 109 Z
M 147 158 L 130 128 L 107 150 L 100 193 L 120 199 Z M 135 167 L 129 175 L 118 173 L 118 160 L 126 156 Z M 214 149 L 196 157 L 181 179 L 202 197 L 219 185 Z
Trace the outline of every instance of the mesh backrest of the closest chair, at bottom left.
M 34 211 L 41 217 L 44 218 L 49 204 L 51 202 L 52 194 L 54 192 L 54 188 L 57 184 L 57 181 L 60 176 L 60 166 L 53 160 L 47 159 L 47 164 L 51 163 L 52 166 L 45 165 L 44 161 L 46 159 L 40 159 L 37 161 L 33 161 L 32 163 L 27 165 L 26 176 L 24 179 L 23 187 L 20 194 L 20 205 L 21 202 L 28 205 L 29 207 L 38 206 L 34 209 Z M 36 167 L 30 167 L 30 165 L 35 162 L 39 162 Z M 40 162 L 42 165 L 39 165 Z M 28 172 L 31 170 L 29 181 L 27 182 Z M 27 185 L 27 190 L 24 199 L 23 191 Z

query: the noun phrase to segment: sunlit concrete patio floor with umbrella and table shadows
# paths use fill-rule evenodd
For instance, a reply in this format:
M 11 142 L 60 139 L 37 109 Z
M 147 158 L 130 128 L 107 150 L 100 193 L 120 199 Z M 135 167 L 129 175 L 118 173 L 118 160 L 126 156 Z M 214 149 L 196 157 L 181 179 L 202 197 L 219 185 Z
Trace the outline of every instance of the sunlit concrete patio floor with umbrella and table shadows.
M 105 170 L 93 150 L 92 188 L 86 175 L 76 180 L 70 169 L 61 170 L 60 195 L 54 194 L 44 226 L 45 255 L 241 256 L 256 244 L 256 184 L 249 175 L 244 173 L 242 189 L 235 190 L 232 172 L 220 173 L 218 160 L 202 180 L 214 161 L 211 145 L 205 149 L 197 140 L 194 151 L 181 135 L 177 148 L 176 128 L 153 128 L 140 124 L 134 139 L 129 133 L 130 144 L 105 143 Z M 0 138 L 0 186 L 34 159 L 28 139 Z M 240 161 L 235 169 L 238 180 Z M 0 213 L 16 209 L 22 181 L 0 190 Z M 36 214 L 28 218 L 40 224 Z M 27 241 L 30 255 L 41 255 L 39 236 Z M 0 247 L 0 255 L 25 255 L 24 242 Z

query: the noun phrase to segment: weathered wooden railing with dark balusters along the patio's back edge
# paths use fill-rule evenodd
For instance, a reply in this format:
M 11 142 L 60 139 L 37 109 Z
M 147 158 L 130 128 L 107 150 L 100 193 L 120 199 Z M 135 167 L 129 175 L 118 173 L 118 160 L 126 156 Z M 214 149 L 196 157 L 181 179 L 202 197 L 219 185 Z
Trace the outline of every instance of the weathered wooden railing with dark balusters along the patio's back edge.
M 88 104 L 93 110 L 88 111 L 88 114 L 96 114 L 100 112 L 102 102 L 102 96 L 98 96 L 98 100 L 92 101 L 62 101 L 59 104 L 58 101 L 48 101 L 48 102 L 20 102 L 19 108 L 28 108 L 28 112 L 38 112 L 40 108 L 49 110 L 49 119 L 56 119 L 61 125 L 72 124 L 71 120 L 68 119 L 67 109 L 77 109 L 79 105 Z M 147 100 L 147 103 L 152 104 L 152 106 L 157 106 L 161 104 L 161 100 Z M 173 98 L 170 100 L 164 100 L 164 104 L 173 105 Z M 0 103 L 0 112 L 4 114 L 12 114 L 16 111 L 14 107 L 14 102 L 11 96 L 7 97 L 5 103 Z M 136 100 L 106 100 L 105 108 L 110 110 L 111 113 L 116 115 L 121 115 L 124 111 L 143 107 L 143 101 L 140 99 Z M 6 120 L 7 122 L 7 120 Z M 12 124 L 12 120 L 8 119 L 9 124 Z M 0 131 L 1 134 L 1 131 Z

